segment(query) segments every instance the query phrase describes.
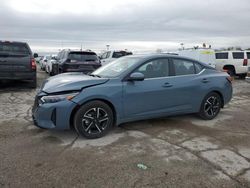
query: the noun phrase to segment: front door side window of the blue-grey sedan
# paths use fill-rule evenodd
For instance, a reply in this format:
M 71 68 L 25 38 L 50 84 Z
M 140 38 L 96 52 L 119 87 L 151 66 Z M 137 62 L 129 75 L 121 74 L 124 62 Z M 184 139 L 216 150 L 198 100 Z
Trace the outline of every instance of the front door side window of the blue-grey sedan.
M 135 72 L 141 72 L 145 78 L 159 78 L 169 76 L 169 62 L 168 59 L 156 59 L 150 61 Z

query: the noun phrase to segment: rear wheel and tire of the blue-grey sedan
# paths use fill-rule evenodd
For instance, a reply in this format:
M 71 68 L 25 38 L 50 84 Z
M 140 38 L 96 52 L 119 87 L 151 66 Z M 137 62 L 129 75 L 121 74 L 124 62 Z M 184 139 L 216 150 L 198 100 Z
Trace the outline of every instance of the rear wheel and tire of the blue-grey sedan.
M 199 116 L 205 120 L 214 119 L 220 112 L 222 99 L 218 93 L 211 92 L 203 99 Z

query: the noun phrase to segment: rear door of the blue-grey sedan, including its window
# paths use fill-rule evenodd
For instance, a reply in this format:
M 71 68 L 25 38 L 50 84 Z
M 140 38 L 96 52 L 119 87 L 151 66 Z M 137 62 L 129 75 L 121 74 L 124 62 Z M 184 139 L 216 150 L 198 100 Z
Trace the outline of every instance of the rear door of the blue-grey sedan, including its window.
M 187 59 L 173 58 L 174 76 L 169 83 L 173 85 L 175 104 L 180 111 L 197 112 L 206 87 L 210 84 L 209 78 L 201 76 L 203 66 Z

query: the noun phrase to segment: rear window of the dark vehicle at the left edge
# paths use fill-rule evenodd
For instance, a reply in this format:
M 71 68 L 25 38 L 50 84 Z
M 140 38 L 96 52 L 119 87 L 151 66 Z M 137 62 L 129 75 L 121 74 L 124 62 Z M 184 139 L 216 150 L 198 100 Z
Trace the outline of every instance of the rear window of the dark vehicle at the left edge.
M 30 50 L 25 43 L 0 43 L 0 52 L 12 54 L 30 54 Z

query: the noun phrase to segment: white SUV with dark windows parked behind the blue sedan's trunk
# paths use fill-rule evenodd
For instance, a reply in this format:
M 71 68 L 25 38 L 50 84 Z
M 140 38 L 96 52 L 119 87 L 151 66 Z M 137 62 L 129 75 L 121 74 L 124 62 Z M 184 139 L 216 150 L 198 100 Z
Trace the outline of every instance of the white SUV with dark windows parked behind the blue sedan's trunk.
M 221 51 L 216 52 L 216 69 L 227 71 L 231 76 L 238 75 L 245 78 L 248 71 L 250 52 Z

